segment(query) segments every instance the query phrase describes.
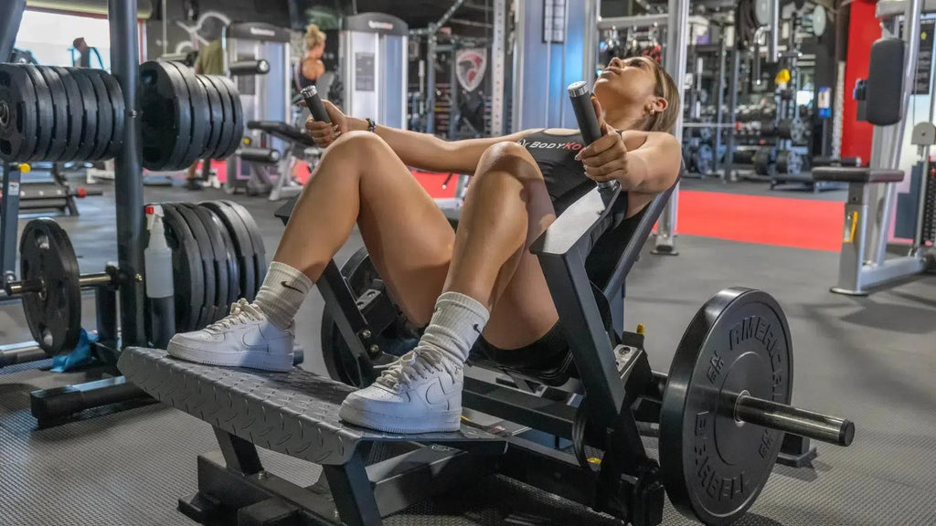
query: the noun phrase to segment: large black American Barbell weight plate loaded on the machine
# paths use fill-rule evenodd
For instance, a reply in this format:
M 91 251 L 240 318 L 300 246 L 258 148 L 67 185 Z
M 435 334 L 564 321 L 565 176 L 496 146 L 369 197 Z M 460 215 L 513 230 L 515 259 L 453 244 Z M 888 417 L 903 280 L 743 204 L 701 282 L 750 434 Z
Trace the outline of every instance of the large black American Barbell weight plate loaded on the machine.
M 704 524 L 738 520 L 767 483 L 782 431 L 735 418 L 739 394 L 789 403 L 790 329 L 767 293 L 728 288 L 695 314 L 669 369 L 660 475 L 669 500 Z

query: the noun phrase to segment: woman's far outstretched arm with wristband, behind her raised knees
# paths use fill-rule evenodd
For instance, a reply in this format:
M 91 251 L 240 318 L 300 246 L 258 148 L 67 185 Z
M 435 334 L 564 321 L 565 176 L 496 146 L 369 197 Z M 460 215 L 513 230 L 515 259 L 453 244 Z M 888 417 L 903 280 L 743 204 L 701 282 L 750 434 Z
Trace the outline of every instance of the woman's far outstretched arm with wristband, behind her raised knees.
M 366 130 L 367 121 L 348 117 L 349 129 Z M 474 173 L 481 155 L 491 145 L 516 142 L 530 131 L 521 131 L 504 137 L 482 139 L 444 140 L 427 133 L 376 126 L 373 130 L 384 139 L 403 161 L 403 164 L 427 171 Z

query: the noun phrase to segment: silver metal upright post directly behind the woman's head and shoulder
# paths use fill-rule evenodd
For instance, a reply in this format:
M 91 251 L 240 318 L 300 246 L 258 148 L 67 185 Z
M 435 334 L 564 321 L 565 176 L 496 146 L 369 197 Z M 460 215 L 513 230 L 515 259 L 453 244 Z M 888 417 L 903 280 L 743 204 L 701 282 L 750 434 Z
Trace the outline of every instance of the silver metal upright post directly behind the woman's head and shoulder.
M 686 44 L 689 33 L 689 0 L 669 0 L 669 22 L 666 27 L 666 71 L 676 81 L 679 97 L 685 92 L 686 83 Z M 676 117 L 676 129 L 673 135 L 682 143 L 682 111 Z M 677 256 L 676 250 L 676 211 L 679 208 L 679 186 L 673 192 L 656 230 L 656 245 L 653 254 Z

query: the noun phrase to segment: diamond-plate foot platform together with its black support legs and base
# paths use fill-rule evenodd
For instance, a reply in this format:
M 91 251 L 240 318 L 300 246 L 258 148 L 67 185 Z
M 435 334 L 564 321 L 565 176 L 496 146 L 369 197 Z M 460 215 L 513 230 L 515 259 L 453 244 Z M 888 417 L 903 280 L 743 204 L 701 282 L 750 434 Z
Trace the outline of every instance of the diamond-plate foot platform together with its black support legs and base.
M 202 524 L 376 526 L 411 504 L 494 473 L 500 457 L 479 456 L 507 448 L 505 438 L 464 426 L 427 434 L 348 426 L 338 408 L 354 388 L 299 368 L 212 367 L 138 347 L 126 349 L 117 365 L 156 400 L 214 427 L 220 451 L 198 457 L 198 492 L 179 501 L 180 511 Z M 401 453 L 365 465 L 375 443 L 399 446 Z M 268 473 L 257 446 L 321 464 L 324 476 L 300 488 Z

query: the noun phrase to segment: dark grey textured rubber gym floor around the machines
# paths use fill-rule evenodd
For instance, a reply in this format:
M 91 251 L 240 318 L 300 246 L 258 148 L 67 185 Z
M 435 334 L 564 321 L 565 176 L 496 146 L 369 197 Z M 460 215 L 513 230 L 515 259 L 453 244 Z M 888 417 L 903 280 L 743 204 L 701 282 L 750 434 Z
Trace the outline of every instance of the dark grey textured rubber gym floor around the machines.
M 692 182 L 702 194 L 777 196 L 766 185 Z M 99 271 L 116 258 L 113 190 L 79 202 L 79 217 L 60 221 L 80 255 L 81 270 Z M 150 200 L 225 198 L 180 188 L 147 188 Z M 705 197 L 698 196 L 698 197 Z M 810 200 L 840 200 L 782 194 Z M 271 256 L 282 232 L 276 205 L 234 197 L 250 208 Z M 722 198 L 713 194 L 713 199 Z M 690 229 L 687 217 L 681 219 Z M 24 224 L 21 221 L 21 226 Z M 745 226 L 748 228 L 749 226 Z M 901 525 L 936 524 L 936 277 L 929 276 L 855 299 L 832 295 L 838 255 L 785 246 L 682 235 L 680 256 L 646 254 L 629 280 L 629 325 L 648 329 L 654 368 L 668 362 L 696 309 L 729 285 L 763 288 L 780 300 L 795 346 L 794 402 L 856 422 L 849 448 L 819 445 L 812 468 L 778 467 L 739 524 Z M 360 245 L 354 236 L 339 259 Z M 85 297 L 86 327 L 93 327 L 93 296 Z M 321 299 L 303 305 L 299 340 L 303 367 L 321 370 L 315 356 Z M 29 339 L 17 303 L 0 305 L 0 343 Z M 121 412 L 97 410 L 77 421 L 37 430 L 29 391 L 66 385 L 82 373 L 43 371 L 49 360 L 0 371 L 0 524 L 185 525 L 176 499 L 196 489 L 196 456 L 216 447 L 212 430 L 192 416 L 159 404 Z M 271 472 L 311 484 L 311 464 L 274 454 Z M 529 522 L 511 521 L 526 519 Z M 500 478 L 476 483 L 386 520 L 390 525 L 594 524 L 615 522 L 544 493 Z M 688 525 L 667 504 L 665 524 Z

